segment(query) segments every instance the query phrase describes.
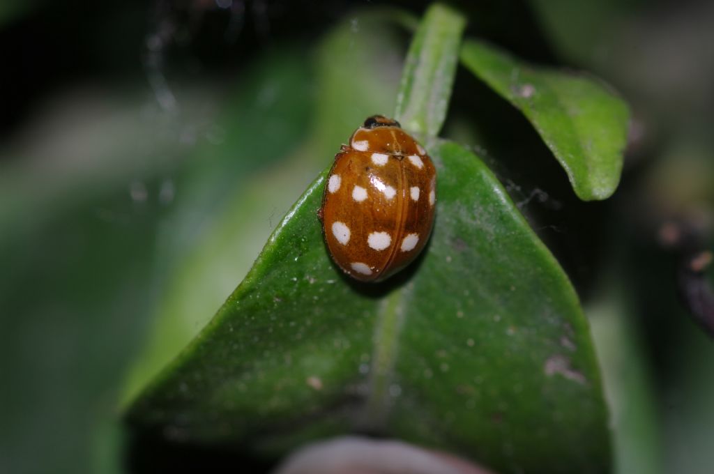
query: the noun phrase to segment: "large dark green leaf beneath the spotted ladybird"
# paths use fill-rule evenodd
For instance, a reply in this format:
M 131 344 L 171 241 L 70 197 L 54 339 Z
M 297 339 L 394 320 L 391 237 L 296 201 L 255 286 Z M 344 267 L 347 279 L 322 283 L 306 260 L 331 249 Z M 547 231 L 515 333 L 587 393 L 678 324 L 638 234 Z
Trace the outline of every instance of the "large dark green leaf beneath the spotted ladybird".
M 323 171 L 131 423 L 261 455 L 367 431 L 503 471 L 607 472 L 573 288 L 477 156 L 448 142 L 431 153 L 438 211 L 423 258 L 378 285 L 348 280 L 316 218 Z

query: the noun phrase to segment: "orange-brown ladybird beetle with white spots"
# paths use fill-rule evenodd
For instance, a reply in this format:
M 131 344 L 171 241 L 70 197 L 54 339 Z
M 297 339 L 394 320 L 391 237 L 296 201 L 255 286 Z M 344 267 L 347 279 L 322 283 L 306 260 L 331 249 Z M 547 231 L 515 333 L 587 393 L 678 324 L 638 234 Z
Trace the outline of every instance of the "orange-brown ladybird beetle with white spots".
M 398 121 L 371 116 L 335 156 L 318 211 L 330 254 L 349 276 L 381 281 L 431 234 L 436 168 Z

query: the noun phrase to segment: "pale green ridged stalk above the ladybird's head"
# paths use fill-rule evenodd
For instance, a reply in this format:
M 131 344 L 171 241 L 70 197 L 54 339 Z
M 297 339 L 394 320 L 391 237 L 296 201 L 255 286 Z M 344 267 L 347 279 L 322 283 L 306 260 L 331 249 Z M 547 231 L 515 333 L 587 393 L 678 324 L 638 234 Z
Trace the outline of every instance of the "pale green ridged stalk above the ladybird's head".
M 436 137 L 446 117 L 466 19 L 434 4 L 416 30 L 397 96 L 394 116 L 406 130 Z

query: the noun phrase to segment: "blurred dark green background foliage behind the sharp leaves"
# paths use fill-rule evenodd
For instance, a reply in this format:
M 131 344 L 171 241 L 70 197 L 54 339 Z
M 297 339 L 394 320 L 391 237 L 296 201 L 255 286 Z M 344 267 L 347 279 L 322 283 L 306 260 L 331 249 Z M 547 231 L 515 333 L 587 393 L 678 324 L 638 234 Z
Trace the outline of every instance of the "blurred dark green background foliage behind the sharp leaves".
M 713 248 L 714 6 L 456 5 L 469 34 L 593 71 L 633 107 L 603 203 L 578 201 L 528 123 L 466 74 L 445 134 L 486 151 L 578 288 L 618 472 L 710 472 L 714 348 L 677 295 L 688 249 L 660 236 L 676 223 Z M 394 9 L 425 6 L 0 6 L 0 472 L 145 469 L 122 404 L 211 318 L 353 128 L 393 110 L 409 39 Z

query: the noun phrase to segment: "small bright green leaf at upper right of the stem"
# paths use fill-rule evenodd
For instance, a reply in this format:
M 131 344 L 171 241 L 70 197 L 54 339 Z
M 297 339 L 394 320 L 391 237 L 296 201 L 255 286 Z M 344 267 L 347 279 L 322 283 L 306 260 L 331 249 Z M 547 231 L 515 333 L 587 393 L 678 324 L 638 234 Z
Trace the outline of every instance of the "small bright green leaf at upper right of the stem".
M 580 199 L 615 192 L 629 111 L 608 86 L 583 74 L 531 66 L 481 41 L 464 41 L 461 61 L 533 123 Z

